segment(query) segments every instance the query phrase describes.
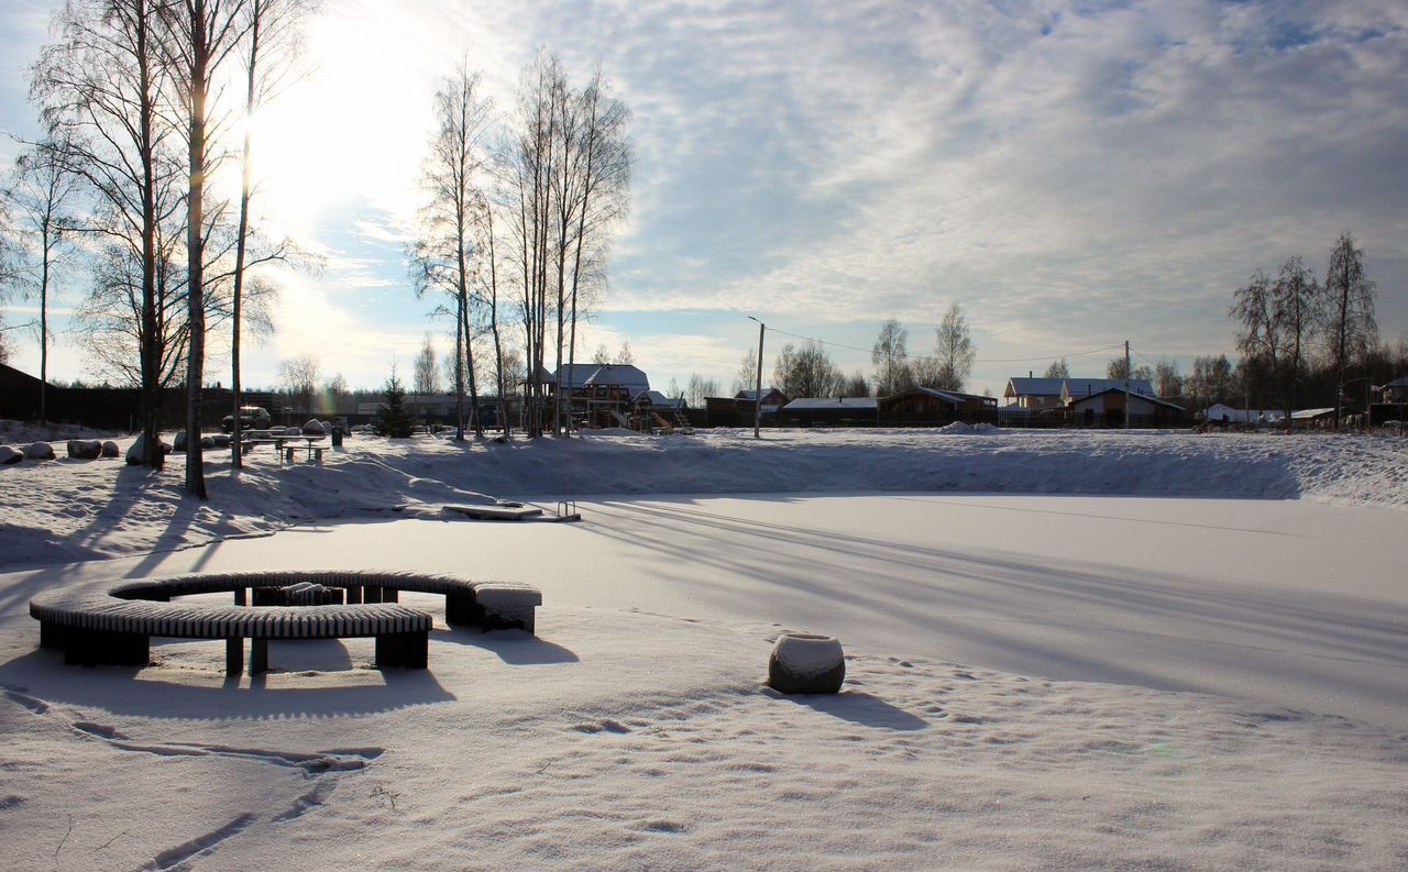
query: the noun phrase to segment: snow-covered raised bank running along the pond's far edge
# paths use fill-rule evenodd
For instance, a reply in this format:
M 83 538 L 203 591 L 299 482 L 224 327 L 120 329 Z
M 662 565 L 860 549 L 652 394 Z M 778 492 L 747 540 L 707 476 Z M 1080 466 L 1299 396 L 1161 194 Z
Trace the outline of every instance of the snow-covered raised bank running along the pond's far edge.
M 124 444 L 130 444 L 130 440 Z M 701 430 L 586 439 L 348 439 L 324 463 L 210 451 L 210 501 L 169 470 L 59 460 L 0 467 L 0 565 L 176 549 L 334 518 L 441 518 L 444 504 L 645 494 L 967 492 L 1218 496 L 1408 506 L 1408 443 L 1174 432 Z M 39 532 L 41 536 L 11 536 Z M 23 541 L 21 541 L 23 540 Z

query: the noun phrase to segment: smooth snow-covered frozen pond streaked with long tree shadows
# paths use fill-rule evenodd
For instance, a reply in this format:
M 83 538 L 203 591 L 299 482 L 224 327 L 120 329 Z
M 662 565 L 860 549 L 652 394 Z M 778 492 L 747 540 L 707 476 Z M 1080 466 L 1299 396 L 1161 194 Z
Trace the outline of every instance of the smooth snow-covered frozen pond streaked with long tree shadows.
M 365 567 L 528 581 L 553 606 L 776 622 L 1007 672 L 1408 729 L 1404 513 L 1298 501 L 596 498 L 580 525 L 297 527 L 14 574 Z

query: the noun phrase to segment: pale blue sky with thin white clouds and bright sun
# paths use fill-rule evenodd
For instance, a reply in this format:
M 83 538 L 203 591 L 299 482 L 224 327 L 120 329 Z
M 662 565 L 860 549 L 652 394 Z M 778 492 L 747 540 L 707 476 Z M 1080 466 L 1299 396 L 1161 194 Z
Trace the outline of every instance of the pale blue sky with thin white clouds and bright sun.
M 0 3 L 10 134 L 37 131 L 27 68 L 58 6 Z M 629 342 L 655 388 L 698 373 L 729 391 L 749 316 L 765 380 L 800 338 L 869 376 L 887 319 L 929 353 L 952 302 L 974 391 L 1062 356 L 1100 376 L 1125 340 L 1187 371 L 1235 353 L 1226 311 L 1255 270 L 1298 255 L 1324 276 L 1345 231 L 1381 332 L 1408 332 L 1401 1 L 325 0 L 255 142 L 260 225 L 322 267 L 282 276 L 245 384 L 310 353 L 376 387 L 427 332 L 452 349 L 404 255 L 431 97 L 463 58 L 505 115 L 539 48 L 576 82 L 600 63 L 632 111 L 631 212 L 580 346 Z M 75 273 L 61 315 L 84 293 Z M 11 364 L 38 371 L 37 342 L 10 335 Z M 101 378 L 73 335 L 56 343 L 54 380 Z

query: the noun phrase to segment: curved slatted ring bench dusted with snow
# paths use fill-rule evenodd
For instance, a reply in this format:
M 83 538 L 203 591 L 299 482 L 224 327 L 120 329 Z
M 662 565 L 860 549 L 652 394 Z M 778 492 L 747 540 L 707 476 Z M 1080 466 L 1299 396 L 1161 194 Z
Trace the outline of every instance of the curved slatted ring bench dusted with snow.
M 349 605 L 249 606 L 249 591 L 339 588 Z M 39 622 L 39 646 L 61 648 L 65 662 L 146 665 L 151 637 L 224 639 L 225 671 L 269 668 L 270 639 L 375 637 L 377 668 L 424 669 L 428 613 L 397 602 L 400 591 L 445 596 L 451 624 L 534 630 L 542 595 L 527 585 L 474 582 L 452 575 L 411 572 L 231 572 L 182 575 L 114 584 L 97 592 L 51 591 L 30 601 Z M 234 592 L 234 605 L 170 602 L 173 596 Z

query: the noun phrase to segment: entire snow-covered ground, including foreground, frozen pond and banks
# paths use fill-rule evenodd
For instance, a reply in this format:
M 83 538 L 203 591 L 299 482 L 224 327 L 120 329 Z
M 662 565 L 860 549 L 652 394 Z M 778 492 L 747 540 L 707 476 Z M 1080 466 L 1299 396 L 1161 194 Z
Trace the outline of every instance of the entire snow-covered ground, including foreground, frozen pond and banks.
M 180 460 L 0 468 L 0 849 L 18 869 L 1408 866 L 1401 442 L 767 436 L 358 440 L 322 467 L 217 460 L 197 509 Z M 442 520 L 487 495 L 576 495 L 583 522 Z M 56 584 L 341 565 L 534 582 L 538 634 L 438 620 L 431 669 L 387 675 L 366 641 L 276 644 L 276 672 L 227 682 L 208 643 L 63 667 L 25 612 Z M 783 629 L 842 639 L 843 693 L 762 685 Z

